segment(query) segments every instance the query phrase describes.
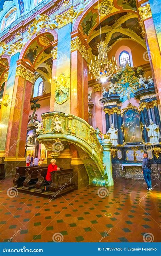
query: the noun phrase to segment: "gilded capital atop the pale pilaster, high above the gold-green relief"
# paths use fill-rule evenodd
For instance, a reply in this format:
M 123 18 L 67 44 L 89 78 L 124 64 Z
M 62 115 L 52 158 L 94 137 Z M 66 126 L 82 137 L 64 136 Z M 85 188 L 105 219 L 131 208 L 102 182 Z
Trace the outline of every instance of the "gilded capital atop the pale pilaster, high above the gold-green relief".
M 58 23 L 58 28 L 61 28 L 68 23 L 72 22 L 72 17 L 74 14 L 74 8 L 71 6 L 71 8 L 67 11 L 62 13 L 61 15 L 56 15 L 56 22 Z

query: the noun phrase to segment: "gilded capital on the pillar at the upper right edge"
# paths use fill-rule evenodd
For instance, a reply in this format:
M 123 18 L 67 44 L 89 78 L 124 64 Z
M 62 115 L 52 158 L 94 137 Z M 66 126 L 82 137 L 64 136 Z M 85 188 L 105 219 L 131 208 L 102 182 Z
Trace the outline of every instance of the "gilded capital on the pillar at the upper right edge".
M 141 35 L 144 38 L 144 34 L 145 34 L 144 20 L 152 17 L 150 4 L 147 3 L 145 6 L 139 7 L 138 10 L 139 10 L 139 15 L 140 15 L 139 22 L 140 22 L 140 26 L 142 29 Z

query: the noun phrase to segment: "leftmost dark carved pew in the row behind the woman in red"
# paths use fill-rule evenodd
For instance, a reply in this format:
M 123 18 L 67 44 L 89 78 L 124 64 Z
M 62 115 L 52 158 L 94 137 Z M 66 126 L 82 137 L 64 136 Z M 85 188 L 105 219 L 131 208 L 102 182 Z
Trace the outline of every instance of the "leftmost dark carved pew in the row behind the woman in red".
M 35 168 L 35 167 L 38 167 L 38 166 L 29 166 L 29 167 L 26 167 L 26 166 L 21 166 L 21 167 L 15 167 L 16 168 L 16 173 L 15 173 L 15 178 L 13 180 L 13 187 L 20 187 L 22 186 L 24 180 L 25 180 L 25 170 L 27 168 Z M 40 167 L 39 167 L 40 168 Z

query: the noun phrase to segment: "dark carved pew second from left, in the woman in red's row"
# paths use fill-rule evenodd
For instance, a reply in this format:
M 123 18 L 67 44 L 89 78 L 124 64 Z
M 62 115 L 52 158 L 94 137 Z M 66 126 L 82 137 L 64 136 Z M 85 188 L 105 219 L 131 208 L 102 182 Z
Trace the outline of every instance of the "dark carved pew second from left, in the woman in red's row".
M 47 166 L 41 167 L 41 169 L 47 169 Z M 36 182 L 38 180 L 38 170 L 40 169 L 39 166 L 35 166 L 35 168 L 27 168 L 25 170 L 25 180 L 23 182 L 22 189 L 29 190 L 30 188 L 35 187 Z

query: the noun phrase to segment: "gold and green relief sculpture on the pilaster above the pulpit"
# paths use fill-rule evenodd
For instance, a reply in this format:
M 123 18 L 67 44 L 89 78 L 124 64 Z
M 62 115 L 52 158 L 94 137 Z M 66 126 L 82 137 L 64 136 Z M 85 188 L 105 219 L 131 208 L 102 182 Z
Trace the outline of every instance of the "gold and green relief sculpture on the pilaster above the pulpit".
M 64 73 L 59 76 L 59 81 L 55 81 L 55 102 L 62 104 L 69 99 L 69 87 L 67 86 L 67 79 Z

